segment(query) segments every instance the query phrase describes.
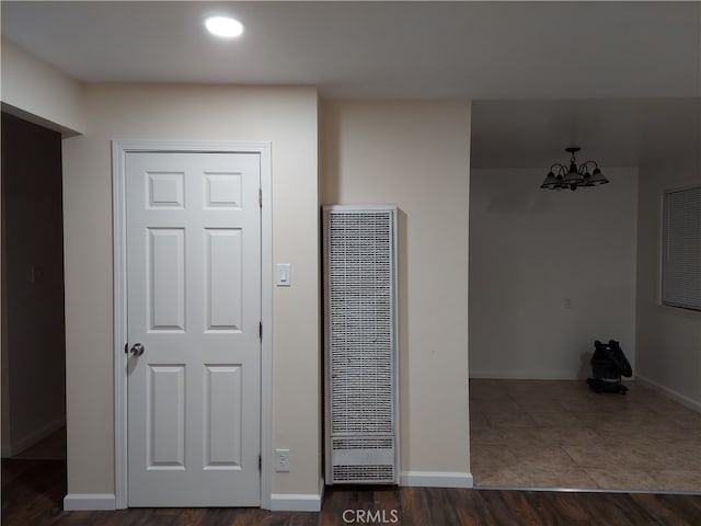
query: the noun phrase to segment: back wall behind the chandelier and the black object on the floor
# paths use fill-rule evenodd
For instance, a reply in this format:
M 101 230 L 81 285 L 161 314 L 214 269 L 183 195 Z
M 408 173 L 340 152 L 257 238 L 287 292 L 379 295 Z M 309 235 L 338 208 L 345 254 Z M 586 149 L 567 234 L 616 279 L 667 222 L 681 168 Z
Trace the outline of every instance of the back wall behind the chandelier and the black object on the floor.
M 471 377 L 586 377 L 597 339 L 635 368 L 636 170 L 576 192 L 545 171 L 472 170 Z

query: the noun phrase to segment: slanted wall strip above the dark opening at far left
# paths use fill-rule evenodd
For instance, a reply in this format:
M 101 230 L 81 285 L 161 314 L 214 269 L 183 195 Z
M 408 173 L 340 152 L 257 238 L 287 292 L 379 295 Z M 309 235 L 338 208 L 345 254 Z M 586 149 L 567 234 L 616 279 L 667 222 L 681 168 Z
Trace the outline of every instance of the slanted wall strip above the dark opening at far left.
M 2 39 L 3 111 L 66 136 L 83 132 L 82 85 Z

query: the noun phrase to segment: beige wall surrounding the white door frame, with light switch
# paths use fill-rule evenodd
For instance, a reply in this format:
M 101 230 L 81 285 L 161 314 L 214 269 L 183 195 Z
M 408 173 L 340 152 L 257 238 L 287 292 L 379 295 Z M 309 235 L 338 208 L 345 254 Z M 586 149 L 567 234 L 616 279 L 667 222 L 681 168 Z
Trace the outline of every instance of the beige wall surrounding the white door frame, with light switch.
M 114 492 L 111 141 L 271 141 L 273 260 L 295 284 L 273 298 L 273 493 L 313 494 L 321 472 L 319 203 L 313 88 L 88 85 L 87 134 L 64 141 L 68 492 Z M 272 278 L 272 276 L 269 276 Z

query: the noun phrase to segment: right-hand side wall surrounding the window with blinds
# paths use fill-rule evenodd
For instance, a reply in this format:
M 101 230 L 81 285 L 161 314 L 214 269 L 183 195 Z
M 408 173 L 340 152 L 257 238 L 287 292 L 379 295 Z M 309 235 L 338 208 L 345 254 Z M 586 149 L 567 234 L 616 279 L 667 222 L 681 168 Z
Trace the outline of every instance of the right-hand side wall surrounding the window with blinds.
M 663 191 L 701 184 L 699 156 L 689 152 L 640 169 L 636 327 L 637 376 L 701 410 L 701 312 L 659 301 Z

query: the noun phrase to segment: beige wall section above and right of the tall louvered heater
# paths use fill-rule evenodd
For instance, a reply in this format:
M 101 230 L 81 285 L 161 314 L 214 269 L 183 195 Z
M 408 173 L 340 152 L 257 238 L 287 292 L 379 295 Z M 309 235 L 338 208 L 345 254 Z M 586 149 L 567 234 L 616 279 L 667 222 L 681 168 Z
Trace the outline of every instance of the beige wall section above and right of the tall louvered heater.
M 323 204 L 399 206 L 401 469 L 469 472 L 470 104 L 321 107 Z

